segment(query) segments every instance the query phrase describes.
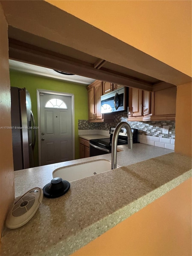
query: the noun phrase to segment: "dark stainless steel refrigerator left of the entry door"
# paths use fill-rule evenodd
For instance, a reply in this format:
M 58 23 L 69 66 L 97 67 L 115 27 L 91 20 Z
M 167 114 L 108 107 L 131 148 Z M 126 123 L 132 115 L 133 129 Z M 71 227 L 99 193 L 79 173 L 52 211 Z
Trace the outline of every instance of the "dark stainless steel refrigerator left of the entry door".
M 11 126 L 14 170 L 34 167 L 35 120 L 31 97 L 25 88 L 11 87 Z

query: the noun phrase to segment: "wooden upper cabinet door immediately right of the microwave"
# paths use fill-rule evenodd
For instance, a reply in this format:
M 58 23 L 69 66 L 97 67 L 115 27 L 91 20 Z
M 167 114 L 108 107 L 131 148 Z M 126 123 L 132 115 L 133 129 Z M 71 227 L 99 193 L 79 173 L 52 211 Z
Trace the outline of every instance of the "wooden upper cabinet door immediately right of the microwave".
M 129 88 L 129 115 L 142 115 L 142 95 L 143 91 L 137 88 Z

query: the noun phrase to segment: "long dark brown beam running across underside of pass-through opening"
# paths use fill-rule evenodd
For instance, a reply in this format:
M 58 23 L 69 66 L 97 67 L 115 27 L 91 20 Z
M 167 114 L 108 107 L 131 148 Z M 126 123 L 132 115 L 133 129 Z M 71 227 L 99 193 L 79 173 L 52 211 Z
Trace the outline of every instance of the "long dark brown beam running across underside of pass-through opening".
M 138 81 L 124 74 L 115 74 L 116 72 L 113 70 L 100 70 L 94 68 L 93 64 L 12 39 L 9 39 L 9 58 L 46 68 L 70 72 L 83 77 L 152 91 L 152 85 L 150 83 Z

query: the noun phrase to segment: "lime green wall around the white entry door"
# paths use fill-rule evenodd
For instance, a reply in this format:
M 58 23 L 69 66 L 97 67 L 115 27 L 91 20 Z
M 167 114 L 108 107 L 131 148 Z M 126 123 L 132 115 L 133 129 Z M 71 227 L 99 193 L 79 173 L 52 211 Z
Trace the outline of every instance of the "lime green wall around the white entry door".
M 59 80 L 48 79 L 10 70 L 10 85 L 23 88 L 25 87 L 31 95 L 32 112 L 37 121 L 37 91 L 44 89 L 57 92 L 73 93 L 75 98 L 75 158 L 79 158 L 78 140 L 78 119 L 88 119 L 88 100 L 86 86 L 67 83 Z M 38 124 L 39 126 L 39 124 Z M 38 138 L 34 150 L 35 166 L 38 166 Z

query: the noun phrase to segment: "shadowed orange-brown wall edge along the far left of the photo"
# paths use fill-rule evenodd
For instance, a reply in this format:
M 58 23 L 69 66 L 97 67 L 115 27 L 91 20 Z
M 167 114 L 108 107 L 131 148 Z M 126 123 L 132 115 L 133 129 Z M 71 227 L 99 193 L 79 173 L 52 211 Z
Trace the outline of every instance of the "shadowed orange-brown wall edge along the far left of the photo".
M 0 127 L 11 126 L 7 21 L 0 4 Z M 8 207 L 14 199 L 11 129 L 0 129 L 0 234 Z

